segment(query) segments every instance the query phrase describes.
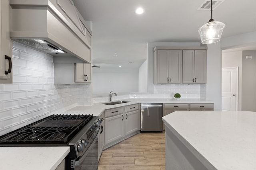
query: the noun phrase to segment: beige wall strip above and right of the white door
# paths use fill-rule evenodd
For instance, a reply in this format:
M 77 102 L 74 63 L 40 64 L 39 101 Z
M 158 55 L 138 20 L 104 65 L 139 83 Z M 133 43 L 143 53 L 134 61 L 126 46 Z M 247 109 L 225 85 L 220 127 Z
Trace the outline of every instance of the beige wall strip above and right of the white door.
M 222 68 L 238 67 L 238 111 L 242 111 L 242 51 L 222 52 Z

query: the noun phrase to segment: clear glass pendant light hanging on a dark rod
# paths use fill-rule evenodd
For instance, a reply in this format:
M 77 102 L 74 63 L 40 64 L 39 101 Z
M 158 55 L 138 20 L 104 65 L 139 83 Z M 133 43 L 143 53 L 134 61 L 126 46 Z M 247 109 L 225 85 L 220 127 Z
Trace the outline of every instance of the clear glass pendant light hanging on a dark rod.
M 204 24 L 198 33 L 201 37 L 202 44 L 212 44 L 220 41 L 222 31 L 225 27 L 225 24 L 220 21 L 214 21 L 212 19 L 212 0 L 211 0 L 211 19 L 208 23 Z

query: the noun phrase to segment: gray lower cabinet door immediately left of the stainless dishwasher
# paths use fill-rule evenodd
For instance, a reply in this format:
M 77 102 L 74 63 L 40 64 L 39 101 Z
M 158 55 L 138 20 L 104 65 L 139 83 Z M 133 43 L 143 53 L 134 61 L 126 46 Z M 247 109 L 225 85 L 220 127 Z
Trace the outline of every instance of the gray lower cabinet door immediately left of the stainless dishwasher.
M 125 135 L 139 130 L 139 111 L 125 113 Z

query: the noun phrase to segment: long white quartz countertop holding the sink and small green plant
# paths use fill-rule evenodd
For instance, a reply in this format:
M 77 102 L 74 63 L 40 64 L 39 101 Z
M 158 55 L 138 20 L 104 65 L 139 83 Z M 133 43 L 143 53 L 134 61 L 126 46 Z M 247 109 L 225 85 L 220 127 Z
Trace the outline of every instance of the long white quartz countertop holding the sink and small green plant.
M 163 99 L 163 98 L 140 98 L 140 99 L 123 99 L 125 101 L 129 101 L 123 104 L 115 104 L 115 105 L 105 105 L 104 103 L 95 103 L 92 106 L 76 106 L 72 109 L 64 111 L 62 114 L 93 114 L 94 116 L 99 116 L 106 109 L 112 109 L 116 107 L 128 106 L 132 104 L 140 104 L 140 103 L 214 103 L 210 100 L 204 99 Z M 118 101 L 118 100 L 116 100 Z M 115 102 L 115 101 L 113 101 Z

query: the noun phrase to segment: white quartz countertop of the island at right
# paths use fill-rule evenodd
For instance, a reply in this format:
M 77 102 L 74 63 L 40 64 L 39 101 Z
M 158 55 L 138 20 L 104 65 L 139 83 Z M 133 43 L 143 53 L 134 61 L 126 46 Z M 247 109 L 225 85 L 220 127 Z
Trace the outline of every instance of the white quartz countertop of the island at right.
M 256 170 L 256 112 L 176 111 L 162 119 L 199 160 L 218 170 Z

